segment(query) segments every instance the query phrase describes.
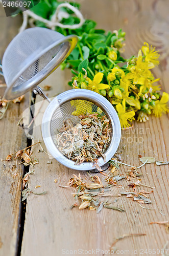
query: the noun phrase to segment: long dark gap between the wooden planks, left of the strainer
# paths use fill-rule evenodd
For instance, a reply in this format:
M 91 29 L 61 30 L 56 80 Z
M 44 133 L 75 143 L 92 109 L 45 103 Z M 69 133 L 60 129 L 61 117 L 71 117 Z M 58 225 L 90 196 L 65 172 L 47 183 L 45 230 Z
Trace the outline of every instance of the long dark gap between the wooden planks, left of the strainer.
M 34 99 L 35 102 L 35 98 L 36 95 L 32 92 L 32 98 Z M 34 103 L 31 101 L 30 103 L 30 121 L 34 118 L 34 111 L 31 110 L 31 106 Z M 33 134 L 33 125 L 34 122 L 31 124 L 30 127 L 30 135 Z M 31 146 L 32 145 L 32 140 L 27 138 L 27 146 Z M 30 148 L 31 150 L 31 148 Z M 23 175 L 22 178 L 29 173 L 29 167 L 28 166 L 24 166 L 23 167 Z M 22 191 L 22 184 L 21 184 L 21 191 Z M 18 220 L 18 230 L 17 230 L 17 248 L 16 248 L 16 254 L 15 256 L 20 256 L 21 253 L 21 246 L 22 246 L 22 239 L 23 239 L 23 232 L 24 232 L 24 225 L 25 225 L 25 216 L 26 216 L 26 211 L 27 211 L 27 200 L 25 200 L 23 203 L 21 203 L 21 195 L 20 195 L 20 206 L 19 206 L 19 211 L 20 211 L 20 215 L 19 215 L 19 220 Z

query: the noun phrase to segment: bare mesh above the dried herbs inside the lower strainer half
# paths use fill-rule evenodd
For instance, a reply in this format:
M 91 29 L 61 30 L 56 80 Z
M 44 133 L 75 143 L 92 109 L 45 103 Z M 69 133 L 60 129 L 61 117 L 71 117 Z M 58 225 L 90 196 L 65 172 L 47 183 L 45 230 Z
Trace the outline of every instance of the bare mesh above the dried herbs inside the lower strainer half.
M 90 115 L 94 113 L 98 113 L 99 116 L 106 115 L 96 103 L 88 100 L 75 99 L 60 105 L 59 108 L 55 111 L 51 120 L 51 135 L 54 143 L 55 137 L 59 133 L 59 130 L 63 127 L 65 119 L 79 115 Z M 109 117 L 107 116 L 107 118 Z

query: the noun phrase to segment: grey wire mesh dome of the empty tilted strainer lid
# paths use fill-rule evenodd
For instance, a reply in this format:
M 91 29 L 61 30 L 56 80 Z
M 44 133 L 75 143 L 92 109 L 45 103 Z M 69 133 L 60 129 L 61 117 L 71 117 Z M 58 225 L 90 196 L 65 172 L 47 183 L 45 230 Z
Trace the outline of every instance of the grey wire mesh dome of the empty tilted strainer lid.
M 25 70 L 25 67 L 28 68 L 18 78 L 15 87 L 35 76 L 56 55 L 59 58 L 59 54 L 63 54 L 64 50 L 67 52 L 70 48 L 68 41 L 53 47 L 42 55 L 47 48 L 63 38 L 62 34 L 45 28 L 27 29 L 18 34 L 9 44 L 2 61 L 7 86 L 10 86 L 13 78 L 21 70 Z M 63 51 L 60 51 L 61 48 Z M 32 64 L 33 60 L 35 61 Z

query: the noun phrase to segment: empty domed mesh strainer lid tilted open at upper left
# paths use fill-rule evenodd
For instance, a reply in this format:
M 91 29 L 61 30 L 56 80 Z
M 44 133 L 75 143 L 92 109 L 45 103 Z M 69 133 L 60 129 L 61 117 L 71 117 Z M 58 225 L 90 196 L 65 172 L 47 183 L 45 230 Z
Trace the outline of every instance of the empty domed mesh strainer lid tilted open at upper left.
M 64 36 L 46 28 L 26 29 L 18 34 L 2 60 L 5 98 L 12 100 L 33 89 L 68 57 L 77 40 L 75 35 Z

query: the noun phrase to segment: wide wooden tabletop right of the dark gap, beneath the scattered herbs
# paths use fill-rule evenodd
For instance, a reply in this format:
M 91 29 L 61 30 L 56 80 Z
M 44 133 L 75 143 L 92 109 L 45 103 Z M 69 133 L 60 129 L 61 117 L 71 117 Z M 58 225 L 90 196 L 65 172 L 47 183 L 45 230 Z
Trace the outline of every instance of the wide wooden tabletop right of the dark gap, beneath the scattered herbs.
M 168 2 L 163 0 L 85 0 L 79 2 L 82 4 L 85 18 L 96 20 L 98 28 L 124 29 L 126 32 L 125 57 L 137 54 L 144 41 L 156 46 L 161 53 L 161 63 L 154 74 L 161 77 L 162 88 L 169 92 L 167 40 L 169 30 L 166 11 L 169 7 Z M 49 91 L 51 96 L 65 90 L 67 77 L 69 74 L 66 76 L 64 72 L 57 71 L 56 83 L 55 81 L 51 83 L 54 87 L 53 91 Z M 43 107 L 45 108 L 45 104 Z M 41 109 L 40 112 L 42 116 L 44 110 Z M 37 124 L 40 123 L 40 118 L 39 115 Z M 153 156 L 160 161 L 168 160 L 167 134 L 167 115 L 159 119 L 150 117 L 147 123 L 135 122 L 133 129 L 122 132 L 119 150 L 123 148 L 124 144 L 126 145 L 125 150 L 122 149 L 122 160 L 135 166 L 140 165 L 139 154 Z M 36 127 L 34 136 L 34 142 L 38 141 L 41 137 L 40 127 L 38 129 Z M 117 198 L 114 205 L 124 207 L 126 212 L 103 209 L 96 214 L 95 211 L 87 209 L 73 208 L 70 210 L 69 207 L 74 203 L 74 197 L 71 195 L 73 191 L 71 188 L 60 188 L 59 185 L 66 185 L 70 177 L 73 174 L 78 175 L 78 172 L 66 168 L 55 159 L 52 159 L 52 164 L 47 164 L 49 157 L 44 153 L 37 153 L 38 149 L 38 145 L 34 147 L 34 156 L 39 159 L 39 164 L 34 167 L 35 172 L 30 176 L 29 187 L 38 192 L 46 190 L 47 194 L 28 197 L 22 256 L 30 254 L 33 256 L 48 254 L 60 256 L 62 249 L 95 250 L 96 248 L 102 249 L 97 255 L 108 255 L 103 250 L 108 250 L 115 238 L 127 233 L 146 233 L 146 236 L 130 237 L 116 243 L 117 249 L 129 250 L 129 255 L 133 254 L 133 249 L 138 250 L 137 255 L 147 255 L 146 253 L 141 254 L 141 249 L 163 248 L 168 240 L 164 226 L 150 225 L 149 223 L 165 221 L 168 218 L 168 166 L 147 164 L 141 168 L 143 174 L 141 182 L 155 186 L 154 193 L 150 194 L 152 204 L 143 206 L 155 208 L 154 210 L 143 209 L 137 202 L 124 196 L 112 197 L 109 201 L 113 202 Z M 124 170 L 127 169 L 127 167 L 122 167 L 120 174 L 125 174 Z M 99 176 L 104 178 L 101 174 Z M 84 181 L 89 181 L 86 172 L 81 172 L 81 177 Z M 57 183 L 54 182 L 55 179 L 57 179 Z M 131 182 L 122 180 L 119 184 L 127 189 L 127 185 Z M 41 187 L 35 188 L 36 185 Z M 151 190 L 143 186 L 140 188 Z M 112 187 L 110 193 L 117 195 L 121 189 Z M 131 189 L 129 190 L 131 191 Z M 70 254 L 69 252 L 67 255 Z

